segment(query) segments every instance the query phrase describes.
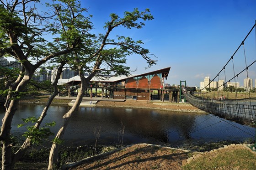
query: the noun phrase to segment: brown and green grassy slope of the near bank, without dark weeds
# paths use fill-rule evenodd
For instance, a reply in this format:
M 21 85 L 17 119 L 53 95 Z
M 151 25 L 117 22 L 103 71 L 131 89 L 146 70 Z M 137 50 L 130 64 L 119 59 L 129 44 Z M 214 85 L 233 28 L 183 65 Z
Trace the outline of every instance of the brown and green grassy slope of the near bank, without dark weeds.
M 204 153 L 152 144 L 135 144 L 68 164 L 65 168 L 69 170 L 252 170 L 256 165 L 255 158 L 256 153 L 248 149 L 245 144 L 225 145 Z

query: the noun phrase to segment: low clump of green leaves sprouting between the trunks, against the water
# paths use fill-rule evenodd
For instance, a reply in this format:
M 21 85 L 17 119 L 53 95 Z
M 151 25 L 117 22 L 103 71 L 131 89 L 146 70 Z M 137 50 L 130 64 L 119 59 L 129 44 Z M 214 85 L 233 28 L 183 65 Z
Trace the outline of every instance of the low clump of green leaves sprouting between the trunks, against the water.
M 29 122 L 37 123 L 38 119 L 39 118 L 36 117 L 22 118 L 24 124 L 18 124 L 17 127 L 20 128 Z M 35 126 L 27 126 L 27 131 L 24 132 L 22 136 L 31 139 L 32 144 L 41 144 L 43 142 L 42 139 L 47 139 L 50 135 L 53 135 L 50 129 L 45 127 L 55 126 L 55 124 L 55 122 L 46 123 L 42 128 L 36 128 Z

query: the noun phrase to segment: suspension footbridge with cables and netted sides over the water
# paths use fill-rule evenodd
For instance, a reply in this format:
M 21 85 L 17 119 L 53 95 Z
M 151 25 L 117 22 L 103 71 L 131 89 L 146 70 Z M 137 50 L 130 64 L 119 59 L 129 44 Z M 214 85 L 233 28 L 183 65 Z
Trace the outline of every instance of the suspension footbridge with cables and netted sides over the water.
M 250 70 L 251 72 L 255 72 L 255 62 L 256 60 L 256 54 L 253 54 L 254 58 L 252 61 L 248 60 L 246 58 L 246 50 L 245 50 L 245 42 L 248 39 L 249 36 L 255 36 L 255 43 L 256 43 L 256 24 L 251 28 L 249 33 L 245 36 L 245 39 L 241 42 L 240 46 L 237 48 L 237 50 L 234 52 L 234 54 L 229 58 L 228 62 L 224 65 L 224 67 L 219 71 L 219 73 L 211 80 L 207 85 L 205 85 L 205 88 L 201 89 L 197 93 L 189 92 L 187 89 L 187 84 L 185 81 L 184 85 L 181 85 L 181 92 L 183 93 L 186 100 L 191 103 L 193 106 L 206 111 L 208 113 L 211 113 L 213 115 L 218 115 L 219 117 L 226 118 L 226 119 L 232 119 L 236 122 L 242 123 L 242 124 L 250 124 L 250 125 L 256 125 L 256 98 L 252 98 L 250 95 L 251 92 L 251 85 L 248 80 L 250 79 Z M 255 52 L 256 52 L 256 45 Z M 238 54 L 240 51 L 240 54 Z M 239 56 L 241 58 L 241 54 L 243 55 L 243 58 L 245 58 L 245 67 L 239 71 L 239 73 L 235 73 L 235 70 L 237 70 L 234 66 L 234 60 L 236 59 L 236 56 Z M 249 63 L 249 64 L 248 64 Z M 240 63 L 241 65 L 242 63 Z M 231 78 L 227 76 L 227 72 L 230 72 L 230 70 L 227 70 L 228 65 L 231 65 L 230 70 L 232 72 Z M 218 81 L 220 75 L 224 77 L 224 83 L 219 84 L 219 86 L 214 87 L 213 81 Z M 246 87 L 247 87 L 247 93 L 249 94 L 248 98 L 238 98 L 237 97 L 237 82 L 238 77 L 241 75 L 245 75 Z M 251 75 L 251 76 L 255 76 Z M 223 98 L 223 96 L 212 96 L 215 94 L 214 92 L 217 92 L 217 95 L 224 92 L 224 88 L 227 87 L 228 82 L 235 82 L 235 98 L 229 99 L 229 92 Z M 183 81 L 181 81 L 183 82 Z M 252 83 L 252 82 L 251 82 Z M 210 86 L 211 85 L 211 86 Z M 208 88 L 207 88 L 208 87 Z M 220 92 L 220 89 L 222 89 Z M 200 94 L 200 95 L 197 95 Z M 207 98 L 204 98 L 203 96 L 207 96 Z

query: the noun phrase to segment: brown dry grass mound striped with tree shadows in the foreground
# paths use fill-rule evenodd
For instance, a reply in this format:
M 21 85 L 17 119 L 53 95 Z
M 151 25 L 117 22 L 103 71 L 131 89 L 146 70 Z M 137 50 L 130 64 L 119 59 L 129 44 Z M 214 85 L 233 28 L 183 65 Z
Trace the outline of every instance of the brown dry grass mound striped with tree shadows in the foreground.
M 148 144 L 135 144 L 70 170 L 181 170 L 186 152 Z

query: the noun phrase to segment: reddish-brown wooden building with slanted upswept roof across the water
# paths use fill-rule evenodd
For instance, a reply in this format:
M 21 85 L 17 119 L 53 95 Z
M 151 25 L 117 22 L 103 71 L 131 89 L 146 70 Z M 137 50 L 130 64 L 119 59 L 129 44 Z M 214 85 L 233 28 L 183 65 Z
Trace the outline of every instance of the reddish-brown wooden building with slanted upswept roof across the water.
M 152 100 L 154 99 L 164 101 L 169 99 L 170 102 L 178 102 L 179 89 L 165 87 L 164 80 L 167 80 L 171 67 L 163 68 L 153 72 L 147 72 L 140 75 L 118 76 L 118 77 L 93 77 L 91 79 L 90 88 L 86 90 L 86 96 L 93 98 L 96 96 L 97 90 L 101 89 L 101 98 L 114 99 L 134 99 L 134 100 Z M 67 84 L 70 86 L 69 95 L 75 86 L 80 84 L 80 77 L 75 76 L 68 80 Z M 73 87 L 73 88 L 72 88 Z M 96 95 L 93 94 L 93 90 Z M 90 91 L 90 94 L 88 94 Z M 153 92 L 157 91 L 157 94 Z

